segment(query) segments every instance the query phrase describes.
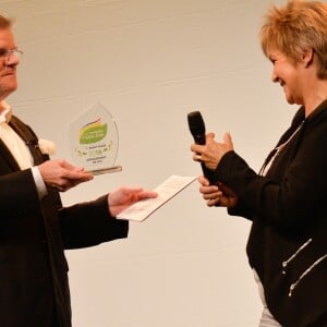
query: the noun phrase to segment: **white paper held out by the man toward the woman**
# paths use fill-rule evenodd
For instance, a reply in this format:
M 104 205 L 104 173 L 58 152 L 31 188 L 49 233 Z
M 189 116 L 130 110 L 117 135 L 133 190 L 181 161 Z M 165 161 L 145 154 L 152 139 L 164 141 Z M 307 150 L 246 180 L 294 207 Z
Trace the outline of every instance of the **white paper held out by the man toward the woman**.
M 165 203 L 190 185 L 196 177 L 171 175 L 164 183 L 155 189 L 158 193 L 156 198 L 146 198 L 136 202 L 129 208 L 121 211 L 117 218 L 134 221 L 143 221 Z

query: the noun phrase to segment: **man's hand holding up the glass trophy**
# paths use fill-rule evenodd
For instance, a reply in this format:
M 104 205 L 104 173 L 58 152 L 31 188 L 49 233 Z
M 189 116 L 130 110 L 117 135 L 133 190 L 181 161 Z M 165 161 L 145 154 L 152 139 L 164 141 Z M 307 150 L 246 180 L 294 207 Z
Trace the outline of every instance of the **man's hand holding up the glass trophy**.
M 84 168 L 75 167 L 65 160 L 48 160 L 39 165 L 38 169 L 45 183 L 60 192 L 93 179 L 93 174 Z

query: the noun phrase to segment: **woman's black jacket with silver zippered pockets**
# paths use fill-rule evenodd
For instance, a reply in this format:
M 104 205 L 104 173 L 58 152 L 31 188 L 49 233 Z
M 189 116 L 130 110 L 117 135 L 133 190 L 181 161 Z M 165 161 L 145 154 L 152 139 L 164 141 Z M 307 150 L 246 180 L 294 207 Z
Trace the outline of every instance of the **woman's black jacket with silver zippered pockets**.
M 229 214 L 253 221 L 249 261 L 275 318 L 283 327 L 323 327 L 327 326 L 327 101 L 306 119 L 300 108 L 278 145 L 298 128 L 265 177 L 234 152 L 222 157 L 215 175 L 239 195 L 239 205 Z

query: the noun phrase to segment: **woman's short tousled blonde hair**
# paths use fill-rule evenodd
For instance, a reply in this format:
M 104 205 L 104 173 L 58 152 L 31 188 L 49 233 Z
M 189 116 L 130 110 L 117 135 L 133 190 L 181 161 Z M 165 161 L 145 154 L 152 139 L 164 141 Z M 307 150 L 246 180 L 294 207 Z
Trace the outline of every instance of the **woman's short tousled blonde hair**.
M 276 48 L 294 62 L 307 49 L 317 56 L 317 77 L 327 80 L 327 3 L 289 0 L 284 7 L 272 5 L 265 15 L 261 44 L 268 57 Z

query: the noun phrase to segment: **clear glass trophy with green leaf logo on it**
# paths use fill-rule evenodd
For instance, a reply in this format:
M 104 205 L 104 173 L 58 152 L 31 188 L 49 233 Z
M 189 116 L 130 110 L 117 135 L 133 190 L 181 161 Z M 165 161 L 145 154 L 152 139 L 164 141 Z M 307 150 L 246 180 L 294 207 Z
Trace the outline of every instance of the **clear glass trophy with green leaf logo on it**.
M 69 141 L 73 161 L 93 174 L 122 170 L 116 165 L 118 129 L 112 116 L 100 104 L 70 123 Z

